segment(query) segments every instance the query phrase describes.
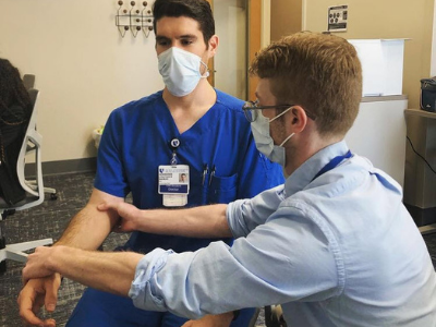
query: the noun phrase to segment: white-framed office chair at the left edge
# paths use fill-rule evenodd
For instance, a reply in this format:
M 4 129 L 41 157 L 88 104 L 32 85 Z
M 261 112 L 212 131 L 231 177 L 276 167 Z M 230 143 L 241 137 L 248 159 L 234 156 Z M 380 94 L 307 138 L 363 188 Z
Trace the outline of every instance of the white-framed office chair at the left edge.
M 21 186 L 26 191 L 26 197 L 10 206 L 5 203 L 3 198 L 0 197 L 0 272 L 5 271 L 5 259 L 13 259 L 16 262 L 25 263 L 27 254 L 23 251 L 34 249 L 36 246 L 52 244 L 52 239 L 37 240 L 31 242 L 23 242 L 16 244 L 7 245 L 4 238 L 4 219 L 15 214 L 15 211 L 28 209 L 40 205 L 44 202 L 44 182 L 43 182 L 43 165 L 40 158 L 40 144 L 43 136 L 36 131 L 36 118 L 37 118 L 37 98 L 39 92 L 37 89 L 29 89 L 28 94 L 32 99 L 33 110 L 31 114 L 31 120 L 27 125 L 26 134 L 24 136 L 19 160 L 16 164 L 16 172 L 19 175 L 19 181 Z M 25 178 L 24 167 L 25 157 L 27 152 L 27 146 L 32 146 L 32 153 L 35 154 L 35 177 L 36 183 L 34 186 L 28 186 Z

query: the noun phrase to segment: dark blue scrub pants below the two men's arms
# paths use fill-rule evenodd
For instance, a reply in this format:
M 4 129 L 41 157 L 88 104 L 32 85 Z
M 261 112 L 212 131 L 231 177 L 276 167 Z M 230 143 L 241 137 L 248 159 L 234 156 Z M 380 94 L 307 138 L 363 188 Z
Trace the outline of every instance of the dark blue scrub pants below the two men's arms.
M 241 310 L 231 327 L 246 327 L 255 308 Z M 65 327 L 180 327 L 186 318 L 137 308 L 130 298 L 86 289 Z

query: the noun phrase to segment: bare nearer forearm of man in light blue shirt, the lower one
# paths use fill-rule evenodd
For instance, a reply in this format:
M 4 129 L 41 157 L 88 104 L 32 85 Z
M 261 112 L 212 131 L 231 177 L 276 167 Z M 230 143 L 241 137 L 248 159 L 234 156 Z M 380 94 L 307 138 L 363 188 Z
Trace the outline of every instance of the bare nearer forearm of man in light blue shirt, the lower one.
M 45 265 L 51 271 L 82 284 L 128 296 L 137 263 L 143 254 L 133 252 L 96 252 L 56 246 Z

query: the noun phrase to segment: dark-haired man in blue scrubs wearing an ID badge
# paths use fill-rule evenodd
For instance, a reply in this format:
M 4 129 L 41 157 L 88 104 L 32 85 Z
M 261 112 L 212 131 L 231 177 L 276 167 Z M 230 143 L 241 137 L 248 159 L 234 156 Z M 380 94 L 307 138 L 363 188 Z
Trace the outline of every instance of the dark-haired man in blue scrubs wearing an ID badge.
M 121 250 L 196 251 L 218 239 L 135 231 L 114 213 L 97 210 L 97 205 L 124 202 L 129 193 L 133 204 L 144 209 L 229 203 L 283 181 L 281 168 L 256 149 L 241 109 L 244 102 L 207 81 L 207 62 L 218 47 L 208 2 L 157 0 L 153 13 L 159 72 L 166 87 L 110 114 L 99 145 L 90 199 L 56 245 L 95 250 L 116 229 L 133 231 Z M 225 242 L 231 244 L 232 239 Z M 32 312 L 39 299 L 32 299 L 37 293 L 43 298 L 45 291 L 46 307 L 52 311 L 59 280 L 56 275 L 25 286 L 20 295 L 24 320 L 43 324 Z M 232 326 L 247 326 L 253 313 L 254 308 L 242 311 Z M 228 326 L 228 317 L 233 315 L 207 317 L 203 323 Z M 134 307 L 131 299 L 87 289 L 66 326 L 175 327 L 185 322 L 170 312 L 146 312 Z

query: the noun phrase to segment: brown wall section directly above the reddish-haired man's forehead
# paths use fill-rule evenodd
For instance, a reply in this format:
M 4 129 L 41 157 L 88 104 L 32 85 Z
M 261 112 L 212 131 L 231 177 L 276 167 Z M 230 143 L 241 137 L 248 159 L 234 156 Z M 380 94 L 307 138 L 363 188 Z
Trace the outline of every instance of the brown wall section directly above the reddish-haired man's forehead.
M 271 0 L 271 41 L 302 29 L 301 0 Z

